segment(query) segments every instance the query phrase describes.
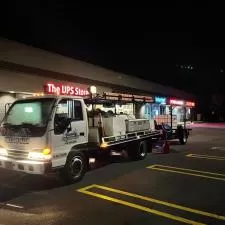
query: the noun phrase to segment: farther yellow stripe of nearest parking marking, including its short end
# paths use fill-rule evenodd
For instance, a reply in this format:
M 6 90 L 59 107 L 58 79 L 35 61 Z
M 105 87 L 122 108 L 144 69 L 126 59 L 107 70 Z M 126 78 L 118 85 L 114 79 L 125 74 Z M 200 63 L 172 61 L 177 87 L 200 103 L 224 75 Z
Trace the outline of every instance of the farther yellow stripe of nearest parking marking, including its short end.
M 157 199 L 154 199 L 154 198 L 150 198 L 150 197 L 146 197 L 146 196 L 142 196 L 142 195 L 126 192 L 126 191 L 121 191 L 121 190 L 118 190 L 118 189 L 113 189 L 113 188 L 109 188 L 109 187 L 105 187 L 105 186 L 100 186 L 100 185 L 96 185 L 96 184 L 90 185 L 88 187 L 81 188 L 77 191 L 82 192 L 82 193 L 86 193 L 86 194 L 91 193 L 92 196 L 95 196 L 96 193 L 88 191 L 88 189 L 91 189 L 91 188 L 99 188 L 99 189 L 103 189 L 103 190 L 106 190 L 106 191 L 118 193 L 118 194 L 121 194 L 121 195 L 125 195 L 125 196 L 129 196 L 129 197 L 145 200 L 145 201 L 148 201 L 148 202 L 157 203 L 157 204 L 160 204 L 160 205 L 163 205 L 163 206 L 175 208 L 175 209 L 178 209 L 178 210 L 183 210 L 183 211 L 186 211 L 186 212 L 198 214 L 198 215 L 201 215 L 201 216 L 211 217 L 211 218 L 215 218 L 215 219 L 218 219 L 218 220 L 225 220 L 225 216 L 221 216 L 221 215 L 217 215 L 217 214 L 209 213 L 209 212 L 204 212 L 204 211 L 201 211 L 201 210 L 198 210 L 198 209 L 192 209 L 192 208 L 177 205 L 177 204 L 174 204 L 174 203 L 169 203 L 169 202 L 157 200 Z M 97 194 L 97 195 L 99 195 L 99 194 Z M 100 196 L 98 196 L 98 197 L 100 197 Z

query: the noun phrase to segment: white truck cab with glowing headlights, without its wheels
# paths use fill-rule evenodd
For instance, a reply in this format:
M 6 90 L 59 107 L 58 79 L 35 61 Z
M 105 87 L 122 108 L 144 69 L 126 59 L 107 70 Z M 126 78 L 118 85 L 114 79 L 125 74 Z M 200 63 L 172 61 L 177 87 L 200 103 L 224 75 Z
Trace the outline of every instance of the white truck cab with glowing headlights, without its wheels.
M 44 174 L 65 165 L 68 149 L 88 142 L 86 106 L 80 97 L 21 99 L 0 129 L 0 167 Z

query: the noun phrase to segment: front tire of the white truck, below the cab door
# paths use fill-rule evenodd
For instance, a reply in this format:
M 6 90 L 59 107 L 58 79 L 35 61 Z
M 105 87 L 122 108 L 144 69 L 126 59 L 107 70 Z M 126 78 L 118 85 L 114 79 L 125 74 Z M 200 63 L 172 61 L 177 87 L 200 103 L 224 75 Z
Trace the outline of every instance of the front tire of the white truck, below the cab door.
M 82 152 L 70 152 L 60 176 L 67 184 L 73 184 L 83 179 L 87 168 L 87 158 Z

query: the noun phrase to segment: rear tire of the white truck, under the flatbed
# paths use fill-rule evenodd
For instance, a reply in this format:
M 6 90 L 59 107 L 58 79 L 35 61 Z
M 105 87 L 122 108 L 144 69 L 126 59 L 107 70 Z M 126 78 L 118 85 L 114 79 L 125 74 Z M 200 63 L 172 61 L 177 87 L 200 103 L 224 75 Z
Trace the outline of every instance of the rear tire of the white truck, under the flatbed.
M 137 161 L 144 159 L 148 154 L 148 145 L 146 141 L 141 141 L 128 146 L 127 154 L 130 160 Z

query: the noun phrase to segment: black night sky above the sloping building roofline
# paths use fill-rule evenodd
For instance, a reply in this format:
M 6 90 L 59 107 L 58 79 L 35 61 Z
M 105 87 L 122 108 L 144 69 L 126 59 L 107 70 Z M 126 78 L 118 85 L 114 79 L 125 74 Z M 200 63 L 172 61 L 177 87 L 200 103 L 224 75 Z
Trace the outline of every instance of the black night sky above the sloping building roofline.
M 9 39 L 198 95 L 225 95 L 219 15 L 209 5 L 80 9 L 18 1 L 2 31 Z

